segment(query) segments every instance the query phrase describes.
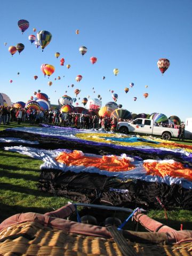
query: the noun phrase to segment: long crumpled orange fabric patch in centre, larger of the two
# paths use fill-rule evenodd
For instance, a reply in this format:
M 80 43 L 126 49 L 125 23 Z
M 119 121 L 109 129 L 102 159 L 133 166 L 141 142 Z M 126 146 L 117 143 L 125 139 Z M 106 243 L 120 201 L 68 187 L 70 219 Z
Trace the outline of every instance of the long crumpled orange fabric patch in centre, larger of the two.
M 73 153 L 62 152 L 55 159 L 59 163 L 66 164 L 68 166 L 94 166 L 99 168 L 100 170 L 106 170 L 109 172 L 129 171 L 135 167 L 133 164 L 130 163 L 128 159 L 125 158 L 117 159 L 116 156 L 102 156 L 102 158 L 84 155 L 82 156 L 81 152 L 79 152 L 78 150 L 74 150 Z

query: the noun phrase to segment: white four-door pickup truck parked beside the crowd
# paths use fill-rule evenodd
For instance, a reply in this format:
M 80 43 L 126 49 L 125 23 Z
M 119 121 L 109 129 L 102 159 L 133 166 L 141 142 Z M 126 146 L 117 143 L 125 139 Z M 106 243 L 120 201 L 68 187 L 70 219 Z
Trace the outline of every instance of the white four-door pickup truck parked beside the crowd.
M 118 122 L 117 131 L 121 133 L 143 133 L 162 136 L 164 140 L 178 137 L 179 129 L 155 126 L 154 121 L 146 118 L 137 118 L 132 122 Z

